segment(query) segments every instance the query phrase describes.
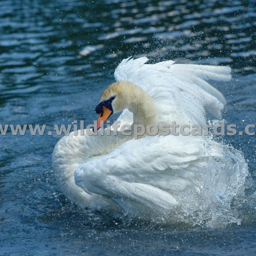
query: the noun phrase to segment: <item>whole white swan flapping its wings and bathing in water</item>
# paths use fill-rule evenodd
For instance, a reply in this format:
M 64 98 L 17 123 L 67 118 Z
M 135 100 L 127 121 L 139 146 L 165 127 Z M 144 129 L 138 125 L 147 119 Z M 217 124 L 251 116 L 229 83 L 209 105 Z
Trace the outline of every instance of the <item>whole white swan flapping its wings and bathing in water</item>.
M 145 64 L 147 60 L 128 58 L 118 65 L 114 76 L 119 82 L 103 92 L 96 107 L 98 120 L 121 111 L 121 125 L 204 125 L 205 111 L 221 118 L 225 99 L 206 81 L 229 81 L 229 67 Z M 66 197 L 91 209 L 143 216 L 169 213 L 184 200 L 203 197 L 209 159 L 224 154 L 220 144 L 204 136 L 148 135 L 136 140 L 120 132 L 114 136 L 113 131 L 111 136 L 84 134 L 80 130 L 60 139 L 52 166 Z M 225 193 L 219 189 L 218 196 Z

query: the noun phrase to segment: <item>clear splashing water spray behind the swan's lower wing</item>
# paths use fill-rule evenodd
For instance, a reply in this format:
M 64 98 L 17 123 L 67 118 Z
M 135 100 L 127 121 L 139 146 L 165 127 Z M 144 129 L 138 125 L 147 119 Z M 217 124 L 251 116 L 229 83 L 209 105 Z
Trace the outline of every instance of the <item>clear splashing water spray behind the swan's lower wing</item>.
M 181 220 L 211 228 L 240 224 L 236 204 L 244 201 L 244 183 L 249 175 L 245 159 L 241 152 L 229 145 L 208 141 L 206 148 L 210 156 L 201 193 L 196 201 L 194 193 L 184 198 Z

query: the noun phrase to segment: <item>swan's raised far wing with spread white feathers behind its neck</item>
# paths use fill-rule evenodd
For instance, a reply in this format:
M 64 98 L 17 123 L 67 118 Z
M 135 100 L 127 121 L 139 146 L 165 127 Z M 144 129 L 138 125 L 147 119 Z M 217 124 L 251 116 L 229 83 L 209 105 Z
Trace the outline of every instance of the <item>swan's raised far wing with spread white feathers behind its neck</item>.
M 148 58 L 124 59 L 118 65 L 116 80 L 127 80 L 142 87 L 154 100 L 162 124 L 206 123 L 206 110 L 221 119 L 225 98 L 207 81 L 229 81 L 228 66 L 175 64 L 165 61 L 145 64 Z M 129 117 L 124 112 L 122 118 Z

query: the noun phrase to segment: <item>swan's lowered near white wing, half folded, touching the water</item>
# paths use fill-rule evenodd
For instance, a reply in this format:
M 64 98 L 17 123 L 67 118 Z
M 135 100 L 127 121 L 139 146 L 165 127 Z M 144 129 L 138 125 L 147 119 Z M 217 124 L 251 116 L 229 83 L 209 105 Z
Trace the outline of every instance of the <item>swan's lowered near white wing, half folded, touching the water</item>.
M 124 210 L 138 204 L 138 209 L 143 205 L 161 212 L 178 205 L 180 191 L 194 187 L 193 180 L 202 177 L 204 157 L 199 137 L 132 139 L 81 164 L 75 170 L 75 182 L 85 192 L 110 198 Z

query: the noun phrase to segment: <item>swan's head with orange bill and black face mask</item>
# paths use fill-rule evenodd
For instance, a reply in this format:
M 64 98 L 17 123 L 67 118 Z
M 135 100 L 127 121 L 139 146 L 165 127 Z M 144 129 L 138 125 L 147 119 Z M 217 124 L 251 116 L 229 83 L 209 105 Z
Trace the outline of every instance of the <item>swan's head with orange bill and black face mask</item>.
M 95 107 L 99 114 L 97 130 L 100 129 L 101 121 L 105 122 L 112 114 L 128 108 L 134 99 L 133 84 L 128 81 L 118 81 L 109 85 L 100 97 L 100 102 Z

